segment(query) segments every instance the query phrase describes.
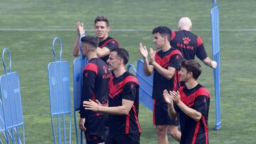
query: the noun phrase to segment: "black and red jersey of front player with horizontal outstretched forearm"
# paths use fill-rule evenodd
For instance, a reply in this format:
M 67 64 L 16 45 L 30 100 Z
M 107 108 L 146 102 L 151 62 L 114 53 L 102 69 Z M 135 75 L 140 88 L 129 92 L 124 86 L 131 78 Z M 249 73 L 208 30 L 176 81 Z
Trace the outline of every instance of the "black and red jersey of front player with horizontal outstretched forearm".
M 109 83 L 109 106 L 122 106 L 122 99 L 134 101 L 127 115 L 110 115 L 109 135 L 141 133 L 139 126 L 139 83 L 136 77 L 124 72 L 119 77 L 112 77 Z

